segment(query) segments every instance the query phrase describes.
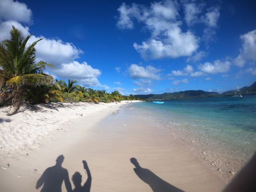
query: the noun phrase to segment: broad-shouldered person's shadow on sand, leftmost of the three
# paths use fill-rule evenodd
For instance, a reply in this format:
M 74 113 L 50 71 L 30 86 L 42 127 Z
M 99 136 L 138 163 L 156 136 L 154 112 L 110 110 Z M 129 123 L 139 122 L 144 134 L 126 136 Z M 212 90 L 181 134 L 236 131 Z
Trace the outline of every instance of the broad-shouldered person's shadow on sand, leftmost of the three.
M 64 161 L 64 156 L 60 155 L 56 159 L 56 165 L 47 168 L 42 176 L 36 182 L 36 189 L 43 184 L 41 192 L 61 192 L 62 182 L 64 180 L 67 192 L 72 192 L 71 183 L 68 177 L 68 170 L 61 165 Z

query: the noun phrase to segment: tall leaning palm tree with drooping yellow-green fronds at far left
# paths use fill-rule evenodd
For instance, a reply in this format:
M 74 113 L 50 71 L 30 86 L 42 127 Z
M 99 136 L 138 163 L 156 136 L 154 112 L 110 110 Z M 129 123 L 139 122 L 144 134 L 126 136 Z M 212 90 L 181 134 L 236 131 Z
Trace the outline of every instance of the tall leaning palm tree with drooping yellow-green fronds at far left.
M 13 115 L 19 110 L 24 92 L 28 88 L 55 83 L 52 76 L 43 73 L 46 66 L 54 68 L 52 64 L 35 62 L 35 45 L 42 39 L 28 45 L 31 36 L 32 34 L 25 38 L 20 30 L 12 26 L 10 40 L 4 40 L 0 44 L 0 89 L 5 84 L 10 89 L 9 94 L 0 97 L 0 106 L 6 104 L 14 106 L 14 111 L 8 115 Z

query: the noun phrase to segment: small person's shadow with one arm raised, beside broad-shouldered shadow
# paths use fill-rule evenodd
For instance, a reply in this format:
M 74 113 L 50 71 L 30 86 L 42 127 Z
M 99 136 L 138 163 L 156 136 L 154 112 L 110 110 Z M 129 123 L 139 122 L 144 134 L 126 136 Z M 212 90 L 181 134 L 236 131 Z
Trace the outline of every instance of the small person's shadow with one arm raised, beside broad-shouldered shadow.
M 86 161 L 82 161 L 84 164 L 84 169 L 87 172 L 87 180 L 84 183 L 84 186 L 81 186 L 82 182 L 82 175 L 79 172 L 75 172 L 74 175 L 72 176 L 72 181 L 74 182 L 75 188 L 73 192 L 90 192 L 91 184 L 92 184 L 92 176 L 91 172 L 88 168 L 88 165 Z

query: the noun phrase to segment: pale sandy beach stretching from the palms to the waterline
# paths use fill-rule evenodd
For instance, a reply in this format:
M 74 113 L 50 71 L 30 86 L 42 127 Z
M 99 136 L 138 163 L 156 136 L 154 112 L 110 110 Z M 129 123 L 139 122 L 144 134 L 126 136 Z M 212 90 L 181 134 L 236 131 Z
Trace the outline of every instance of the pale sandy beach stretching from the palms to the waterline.
M 40 191 L 36 183 L 60 155 L 72 189 L 75 172 L 82 175 L 82 184 L 87 179 L 82 160 L 92 175 L 92 192 L 224 188 L 216 171 L 204 166 L 183 140 L 130 119 L 118 110 L 122 104 L 126 103 L 39 105 L 40 111 L 23 109 L 10 117 L 8 108 L 1 108 L 0 191 Z M 135 168 L 131 158 L 140 166 Z

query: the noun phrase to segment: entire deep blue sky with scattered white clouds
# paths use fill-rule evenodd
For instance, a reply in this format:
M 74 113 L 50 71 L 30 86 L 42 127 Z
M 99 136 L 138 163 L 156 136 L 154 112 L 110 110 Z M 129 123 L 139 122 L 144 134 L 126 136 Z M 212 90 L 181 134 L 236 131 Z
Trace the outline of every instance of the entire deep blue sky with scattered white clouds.
M 123 95 L 256 81 L 255 0 L 0 0 L 0 41 L 33 33 L 44 72 Z

